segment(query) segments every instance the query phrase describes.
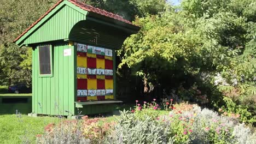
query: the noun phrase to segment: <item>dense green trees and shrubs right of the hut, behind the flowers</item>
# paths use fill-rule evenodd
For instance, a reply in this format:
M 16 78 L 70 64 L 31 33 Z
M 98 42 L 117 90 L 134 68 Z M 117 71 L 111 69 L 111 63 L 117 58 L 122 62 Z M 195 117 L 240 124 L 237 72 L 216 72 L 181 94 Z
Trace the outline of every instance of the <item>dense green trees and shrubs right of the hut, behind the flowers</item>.
M 141 77 L 144 92 L 223 106 L 255 123 L 255 1 L 183 1 L 178 11 L 136 19 L 138 34 L 119 51 L 119 68 Z M 149 88 L 148 88 L 149 87 Z M 229 99 L 229 100 L 228 100 Z

